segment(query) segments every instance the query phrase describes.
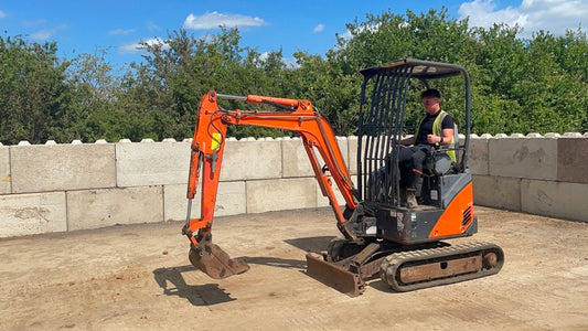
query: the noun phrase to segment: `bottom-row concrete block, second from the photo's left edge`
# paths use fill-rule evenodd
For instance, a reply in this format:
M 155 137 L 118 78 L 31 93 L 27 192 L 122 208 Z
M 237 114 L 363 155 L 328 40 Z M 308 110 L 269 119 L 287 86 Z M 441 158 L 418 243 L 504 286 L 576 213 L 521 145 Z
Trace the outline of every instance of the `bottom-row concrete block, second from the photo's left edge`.
M 162 186 L 70 191 L 66 194 L 70 231 L 163 221 Z

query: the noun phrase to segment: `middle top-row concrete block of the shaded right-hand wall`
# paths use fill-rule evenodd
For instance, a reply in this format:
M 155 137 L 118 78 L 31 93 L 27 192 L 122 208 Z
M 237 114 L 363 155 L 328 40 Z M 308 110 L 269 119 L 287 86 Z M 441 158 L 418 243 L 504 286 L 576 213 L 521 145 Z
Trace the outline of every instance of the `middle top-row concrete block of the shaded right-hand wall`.
M 557 139 L 490 139 L 488 149 L 490 175 L 542 180 L 557 178 Z

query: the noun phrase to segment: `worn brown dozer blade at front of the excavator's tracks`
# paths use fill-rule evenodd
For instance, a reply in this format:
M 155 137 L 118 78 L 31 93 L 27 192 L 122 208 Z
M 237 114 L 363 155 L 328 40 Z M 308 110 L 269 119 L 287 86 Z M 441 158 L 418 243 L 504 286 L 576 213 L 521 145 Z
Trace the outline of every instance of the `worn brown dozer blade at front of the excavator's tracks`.
M 350 297 L 357 297 L 365 290 L 365 282 L 360 275 L 312 253 L 307 254 L 307 274 Z

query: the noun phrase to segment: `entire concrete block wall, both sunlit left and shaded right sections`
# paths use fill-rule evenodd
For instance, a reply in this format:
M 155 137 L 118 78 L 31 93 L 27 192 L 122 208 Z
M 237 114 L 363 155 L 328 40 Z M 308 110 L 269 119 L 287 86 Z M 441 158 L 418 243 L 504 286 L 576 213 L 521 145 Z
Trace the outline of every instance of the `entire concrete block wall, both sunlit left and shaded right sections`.
M 356 180 L 357 138 L 338 142 Z M 588 134 L 470 142 L 477 204 L 588 221 Z M 0 237 L 185 220 L 189 162 L 190 140 L 0 145 Z M 299 138 L 227 139 L 215 215 L 328 205 Z

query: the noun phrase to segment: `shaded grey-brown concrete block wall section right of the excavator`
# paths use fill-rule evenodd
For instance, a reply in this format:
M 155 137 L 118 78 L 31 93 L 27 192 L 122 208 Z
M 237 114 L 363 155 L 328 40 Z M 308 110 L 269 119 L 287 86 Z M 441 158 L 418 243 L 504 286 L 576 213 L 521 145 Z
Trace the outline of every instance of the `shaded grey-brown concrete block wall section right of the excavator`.
M 588 222 L 588 134 L 470 140 L 474 203 Z

